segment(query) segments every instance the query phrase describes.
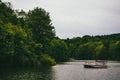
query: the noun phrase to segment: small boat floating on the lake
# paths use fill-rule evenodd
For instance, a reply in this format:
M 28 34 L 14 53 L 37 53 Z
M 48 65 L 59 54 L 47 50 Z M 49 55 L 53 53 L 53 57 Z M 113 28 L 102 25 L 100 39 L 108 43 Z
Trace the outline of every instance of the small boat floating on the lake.
M 107 68 L 106 62 L 103 60 L 95 62 L 85 62 L 84 68 Z

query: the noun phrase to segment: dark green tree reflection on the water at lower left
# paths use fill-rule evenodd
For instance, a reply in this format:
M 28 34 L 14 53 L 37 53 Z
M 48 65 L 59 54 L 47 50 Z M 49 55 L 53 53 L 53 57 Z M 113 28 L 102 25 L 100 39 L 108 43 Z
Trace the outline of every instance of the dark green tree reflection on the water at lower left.
M 51 67 L 42 69 L 0 69 L 0 80 L 55 80 Z

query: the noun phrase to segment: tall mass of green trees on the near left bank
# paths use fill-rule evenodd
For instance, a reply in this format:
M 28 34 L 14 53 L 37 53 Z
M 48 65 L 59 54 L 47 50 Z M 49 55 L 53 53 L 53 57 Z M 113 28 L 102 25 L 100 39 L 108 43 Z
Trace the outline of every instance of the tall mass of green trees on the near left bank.
M 49 14 L 41 8 L 20 12 L 0 2 L 1 66 L 51 66 L 54 59 L 43 52 L 54 38 Z

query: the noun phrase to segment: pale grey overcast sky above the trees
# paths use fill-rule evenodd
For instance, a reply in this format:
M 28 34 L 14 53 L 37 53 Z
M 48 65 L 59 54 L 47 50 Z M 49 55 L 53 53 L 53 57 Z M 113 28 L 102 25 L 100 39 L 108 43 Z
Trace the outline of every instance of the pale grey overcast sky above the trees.
M 14 9 L 45 9 L 50 13 L 56 36 L 63 39 L 120 33 L 120 0 L 2 1 L 11 2 Z

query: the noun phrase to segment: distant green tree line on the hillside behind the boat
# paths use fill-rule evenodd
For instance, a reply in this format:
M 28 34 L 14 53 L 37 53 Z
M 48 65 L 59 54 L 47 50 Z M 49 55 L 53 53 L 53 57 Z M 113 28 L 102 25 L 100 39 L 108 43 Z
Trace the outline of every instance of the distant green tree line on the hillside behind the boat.
M 69 55 L 80 60 L 120 60 L 120 33 L 110 35 L 85 35 L 64 40 Z

